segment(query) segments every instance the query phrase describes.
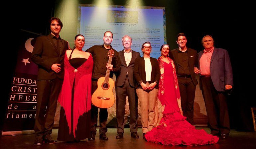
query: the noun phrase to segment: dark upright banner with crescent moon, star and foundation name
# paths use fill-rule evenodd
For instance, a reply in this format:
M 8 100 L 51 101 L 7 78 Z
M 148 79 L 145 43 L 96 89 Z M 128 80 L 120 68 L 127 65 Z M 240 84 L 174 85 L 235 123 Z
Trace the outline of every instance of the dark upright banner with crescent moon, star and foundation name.
M 30 57 L 39 35 L 26 31 L 20 31 L 20 34 L 3 131 L 33 130 L 35 124 L 38 66 Z

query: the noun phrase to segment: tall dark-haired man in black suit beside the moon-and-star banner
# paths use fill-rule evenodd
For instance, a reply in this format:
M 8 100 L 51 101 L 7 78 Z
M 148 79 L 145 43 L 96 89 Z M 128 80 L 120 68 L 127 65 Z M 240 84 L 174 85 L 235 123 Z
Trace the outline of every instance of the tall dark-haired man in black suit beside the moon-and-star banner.
M 42 145 L 43 140 L 50 144 L 57 143 L 51 134 L 57 99 L 64 78 L 64 55 L 68 49 L 68 43 L 60 37 L 62 26 L 59 18 L 51 18 L 51 34 L 37 38 L 31 55 L 32 61 L 39 68 L 34 145 Z

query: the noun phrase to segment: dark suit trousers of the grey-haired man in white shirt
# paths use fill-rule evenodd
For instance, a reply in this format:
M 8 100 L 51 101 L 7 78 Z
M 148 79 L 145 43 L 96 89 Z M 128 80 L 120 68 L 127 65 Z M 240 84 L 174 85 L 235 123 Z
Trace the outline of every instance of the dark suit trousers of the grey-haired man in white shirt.
M 130 131 L 138 130 L 138 97 L 135 87 L 129 83 L 128 77 L 125 78 L 123 86 L 116 87 L 116 124 L 117 132 L 124 132 L 124 114 L 126 95 L 128 96 L 130 109 Z

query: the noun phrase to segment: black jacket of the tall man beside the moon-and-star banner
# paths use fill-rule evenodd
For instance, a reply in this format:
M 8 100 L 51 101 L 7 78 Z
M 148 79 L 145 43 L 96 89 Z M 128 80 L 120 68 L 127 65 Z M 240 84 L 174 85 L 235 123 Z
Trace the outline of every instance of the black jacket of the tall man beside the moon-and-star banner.
M 64 56 L 68 43 L 61 39 L 64 49 L 57 50 L 50 35 L 37 37 L 31 60 L 38 65 L 38 80 L 50 80 L 56 77 L 64 78 Z M 61 72 L 52 71 L 53 64 L 61 64 Z

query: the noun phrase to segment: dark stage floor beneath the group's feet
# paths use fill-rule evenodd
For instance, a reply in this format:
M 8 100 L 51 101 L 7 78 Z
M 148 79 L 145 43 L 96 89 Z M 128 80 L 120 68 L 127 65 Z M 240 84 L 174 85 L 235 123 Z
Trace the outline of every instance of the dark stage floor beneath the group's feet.
M 204 129 L 209 133 L 207 127 L 197 127 L 197 129 Z M 2 136 L 0 140 L 0 149 L 162 149 L 162 148 L 194 148 L 194 149 L 255 149 L 256 147 L 256 133 L 255 132 L 238 132 L 231 130 L 229 137 L 220 139 L 217 144 L 204 146 L 168 146 L 146 142 L 142 138 L 141 128 L 138 128 L 140 135 L 139 139 L 131 138 L 129 128 L 125 128 L 124 138 L 116 139 L 116 128 L 108 128 L 108 141 L 99 140 L 97 129 L 96 139 L 94 141 L 82 140 L 79 143 L 65 143 L 58 142 L 57 144 L 43 144 L 42 146 L 35 146 L 34 134 L 22 134 L 16 136 Z M 58 129 L 53 129 L 52 137 L 57 139 Z

